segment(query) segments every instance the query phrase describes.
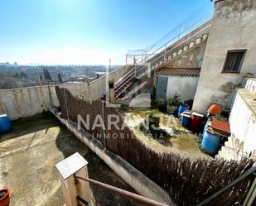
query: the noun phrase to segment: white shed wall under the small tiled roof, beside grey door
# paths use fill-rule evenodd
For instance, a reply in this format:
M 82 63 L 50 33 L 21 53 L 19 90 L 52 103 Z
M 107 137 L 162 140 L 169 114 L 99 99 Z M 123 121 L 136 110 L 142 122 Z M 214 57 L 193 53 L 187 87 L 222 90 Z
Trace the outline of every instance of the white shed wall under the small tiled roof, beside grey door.
M 177 93 L 181 101 L 194 99 L 199 77 L 169 76 L 167 83 L 167 99 Z

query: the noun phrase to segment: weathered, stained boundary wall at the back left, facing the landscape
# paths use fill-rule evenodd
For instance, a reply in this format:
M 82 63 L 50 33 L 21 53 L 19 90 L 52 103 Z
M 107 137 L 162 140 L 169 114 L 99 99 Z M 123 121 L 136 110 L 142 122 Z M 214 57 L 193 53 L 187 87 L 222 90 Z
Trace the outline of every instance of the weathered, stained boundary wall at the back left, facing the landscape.
M 129 69 L 131 69 L 131 66 L 123 66 L 116 69 L 109 73 L 109 79 L 117 81 Z M 106 92 L 106 76 L 96 79 L 89 84 L 60 84 L 59 86 L 69 89 L 72 93 L 83 94 L 86 98 L 97 99 Z M 55 86 L 50 86 L 49 88 L 54 105 L 59 106 Z M 12 120 L 48 111 L 50 106 L 48 86 L 0 90 L 0 113 L 7 113 Z

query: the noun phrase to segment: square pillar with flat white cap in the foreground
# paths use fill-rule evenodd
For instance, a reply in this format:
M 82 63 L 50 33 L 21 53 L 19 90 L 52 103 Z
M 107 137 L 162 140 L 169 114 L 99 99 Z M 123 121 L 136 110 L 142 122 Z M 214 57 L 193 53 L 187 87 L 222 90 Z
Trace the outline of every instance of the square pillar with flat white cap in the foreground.
M 90 202 L 89 183 L 74 177 L 80 175 L 88 178 L 87 165 L 88 162 L 78 152 L 56 164 L 66 206 L 80 205 L 77 196 Z

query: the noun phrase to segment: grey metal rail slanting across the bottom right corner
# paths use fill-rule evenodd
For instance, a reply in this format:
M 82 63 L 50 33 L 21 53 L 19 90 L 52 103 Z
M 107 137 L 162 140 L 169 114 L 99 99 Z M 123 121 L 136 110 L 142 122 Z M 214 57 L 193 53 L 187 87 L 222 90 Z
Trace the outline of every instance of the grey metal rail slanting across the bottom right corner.
M 242 175 L 239 175 L 239 177 L 237 177 L 236 179 L 231 181 L 229 184 L 227 184 L 224 188 L 222 188 L 222 189 L 218 190 L 217 192 L 215 192 L 214 194 L 210 195 L 209 198 L 205 199 L 200 204 L 196 204 L 196 206 L 203 206 L 205 204 L 208 204 L 211 199 L 215 199 L 217 196 L 224 193 L 227 189 L 233 187 L 234 184 L 239 183 L 239 181 L 244 180 L 244 178 L 246 178 L 247 176 L 254 173 L 254 171 L 256 171 L 256 163 L 254 163 L 254 165 L 252 165 L 252 167 L 249 170 L 245 171 Z

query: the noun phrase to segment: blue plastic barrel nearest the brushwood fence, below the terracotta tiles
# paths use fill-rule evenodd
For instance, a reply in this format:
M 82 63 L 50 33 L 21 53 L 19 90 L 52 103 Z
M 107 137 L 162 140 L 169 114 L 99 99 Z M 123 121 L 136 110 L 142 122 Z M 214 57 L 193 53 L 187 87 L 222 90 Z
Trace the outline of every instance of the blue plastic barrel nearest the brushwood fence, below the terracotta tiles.
M 220 146 L 220 137 L 205 131 L 203 140 L 202 140 L 203 149 L 208 153 L 214 155 L 218 152 L 219 146 Z

